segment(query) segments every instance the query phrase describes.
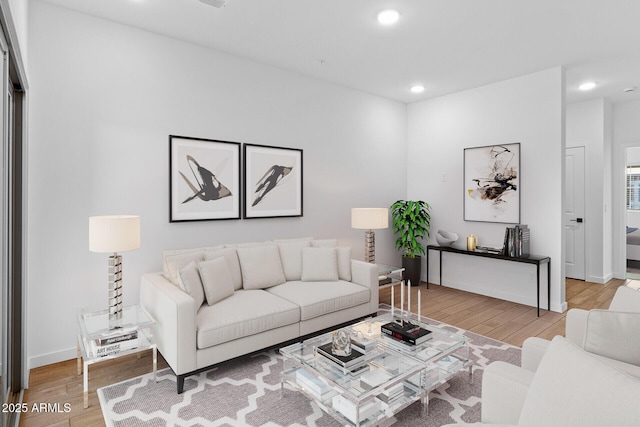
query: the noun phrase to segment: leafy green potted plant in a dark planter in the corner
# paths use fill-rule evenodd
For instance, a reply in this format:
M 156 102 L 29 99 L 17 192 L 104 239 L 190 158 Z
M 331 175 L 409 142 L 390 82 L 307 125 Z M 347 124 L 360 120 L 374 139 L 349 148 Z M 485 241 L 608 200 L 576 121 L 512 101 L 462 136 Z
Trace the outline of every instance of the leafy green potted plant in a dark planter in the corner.
M 396 248 L 402 252 L 405 283 L 420 284 L 422 257 L 425 254 L 422 239 L 429 238 L 431 206 L 422 200 L 398 200 L 391 205 L 393 232 L 396 234 Z

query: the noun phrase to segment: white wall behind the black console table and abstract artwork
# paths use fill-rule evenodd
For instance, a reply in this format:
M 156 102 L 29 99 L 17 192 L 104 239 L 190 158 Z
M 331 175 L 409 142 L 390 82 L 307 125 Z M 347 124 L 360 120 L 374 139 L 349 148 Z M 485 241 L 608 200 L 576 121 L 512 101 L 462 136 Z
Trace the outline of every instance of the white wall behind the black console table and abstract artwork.
M 566 309 L 563 94 L 563 72 L 553 68 L 411 104 L 407 119 L 407 197 L 432 205 L 433 244 L 435 232 L 443 229 L 460 235 L 462 246 L 469 234 L 478 236 L 481 245 L 502 246 L 505 224 L 463 220 L 463 150 L 521 143 L 521 222 L 531 229 L 531 252 L 551 257 L 554 311 Z M 437 259 L 433 253 L 431 283 L 438 282 Z M 536 305 L 533 266 L 447 254 L 443 270 L 447 286 Z M 544 290 L 541 302 L 546 307 Z

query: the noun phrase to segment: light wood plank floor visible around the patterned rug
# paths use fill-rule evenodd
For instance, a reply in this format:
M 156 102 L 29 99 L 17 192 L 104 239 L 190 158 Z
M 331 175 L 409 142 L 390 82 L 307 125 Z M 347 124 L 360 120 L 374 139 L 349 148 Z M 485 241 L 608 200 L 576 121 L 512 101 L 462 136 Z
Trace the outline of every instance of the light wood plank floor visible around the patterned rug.
M 567 279 L 566 299 L 569 308 L 608 308 L 619 286 L 640 287 L 640 281 L 614 279 L 605 285 Z M 530 336 L 546 339 L 564 334 L 565 314 L 536 309 L 521 304 L 430 285 L 421 286 L 422 314 L 432 319 L 468 329 L 516 346 Z M 396 306 L 400 295 L 396 292 Z M 380 302 L 389 304 L 390 289 L 380 291 Z M 417 289 L 412 289 L 412 311 L 417 311 Z M 158 357 L 158 369 L 166 367 Z M 89 408 L 83 409 L 82 375 L 76 374 L 76 360 L 33 369 L 29 389 L 23 402 L 31 409 L 33 404 L 58 404 L 60 412 L 33 412 L 21 414 L 20 426 L 104 426 L 96 389 L 151 372 L 151 352 L 142 353 L 138 359 L 127 356 L 113 361 L 92 365 L 89 368 Z M 64 405 L 70 411 L 64 412 Z

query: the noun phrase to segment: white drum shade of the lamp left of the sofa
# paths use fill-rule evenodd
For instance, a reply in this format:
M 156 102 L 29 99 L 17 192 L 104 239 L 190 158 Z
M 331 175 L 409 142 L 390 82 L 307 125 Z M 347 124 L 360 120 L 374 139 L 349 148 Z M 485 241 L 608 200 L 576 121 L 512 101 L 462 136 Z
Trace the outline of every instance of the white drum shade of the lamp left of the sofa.
M 140 247 L 140 217 L 104 215 L 89 217 L 91 252 L 124 252 Z

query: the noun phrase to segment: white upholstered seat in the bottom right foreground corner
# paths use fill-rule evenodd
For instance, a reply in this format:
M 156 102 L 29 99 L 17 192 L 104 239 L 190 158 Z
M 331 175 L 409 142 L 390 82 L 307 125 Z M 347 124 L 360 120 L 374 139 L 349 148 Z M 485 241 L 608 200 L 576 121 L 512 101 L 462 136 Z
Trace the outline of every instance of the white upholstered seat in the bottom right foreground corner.
M 529 353 L 528 340 L 522 348 L 522 367 L 494 362 L 485 369 L 482 424 L 456 425 L 640 425 L 640 380 L 564 337 L 555 337 L 542 354 L 537 347 Z

